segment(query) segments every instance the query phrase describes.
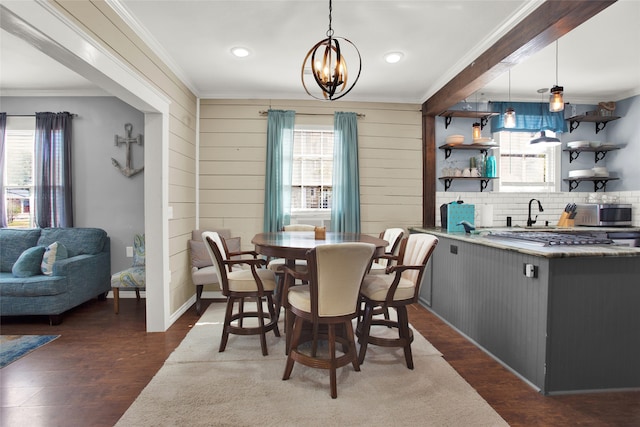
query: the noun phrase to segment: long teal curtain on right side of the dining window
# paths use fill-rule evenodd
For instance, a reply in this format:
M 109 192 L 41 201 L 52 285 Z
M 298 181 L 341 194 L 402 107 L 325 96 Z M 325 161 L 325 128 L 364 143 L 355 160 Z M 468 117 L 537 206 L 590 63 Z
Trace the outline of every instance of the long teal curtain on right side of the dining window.
M 334 115 L 331 230 L 360 232 L 360 173 L 356 113 Z

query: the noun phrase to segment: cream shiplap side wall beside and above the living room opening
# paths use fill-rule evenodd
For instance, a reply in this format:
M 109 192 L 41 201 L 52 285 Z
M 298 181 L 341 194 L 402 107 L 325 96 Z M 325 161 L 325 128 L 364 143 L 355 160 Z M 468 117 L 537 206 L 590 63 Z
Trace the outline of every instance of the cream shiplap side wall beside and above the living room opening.
M 169 310 L 173 314 L 193 298 L 187 242 L 195 228 L 195 160 L 197 99 L 170 68 L 118 16 L 107 2 L 65 1 L 51 5 L 69 17 L 97 43 L 104 45 L 141 78 L 171 100 L 169 106 L 169 266 L 171 271 Z M 155 141 L 156 143 L 158 141 Z M 145 139 L 145 150 L 154 149 Z M 145 218 L 160 212 L 140 212 Z M 162 286 L 148 283 L 147 286 Z

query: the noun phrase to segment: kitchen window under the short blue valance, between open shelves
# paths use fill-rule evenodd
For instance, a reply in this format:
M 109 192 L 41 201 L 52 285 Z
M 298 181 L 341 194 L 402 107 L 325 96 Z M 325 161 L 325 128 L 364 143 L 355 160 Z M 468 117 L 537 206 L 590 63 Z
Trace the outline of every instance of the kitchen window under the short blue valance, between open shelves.
M 546 131 L 547 136 L 555 136 Z M 560 145 L 530 144 L 538 133 L 497 132 L 499 191 L 560 191 Z

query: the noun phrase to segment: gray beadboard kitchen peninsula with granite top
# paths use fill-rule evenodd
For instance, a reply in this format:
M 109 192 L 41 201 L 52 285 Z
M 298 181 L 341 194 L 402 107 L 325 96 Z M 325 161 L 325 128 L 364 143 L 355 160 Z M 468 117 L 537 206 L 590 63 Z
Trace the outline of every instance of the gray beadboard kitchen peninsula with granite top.
M 640 248 L 488 231 L 410 229 L 440 239 L 420 303 L 544 394 L 639 388 Z

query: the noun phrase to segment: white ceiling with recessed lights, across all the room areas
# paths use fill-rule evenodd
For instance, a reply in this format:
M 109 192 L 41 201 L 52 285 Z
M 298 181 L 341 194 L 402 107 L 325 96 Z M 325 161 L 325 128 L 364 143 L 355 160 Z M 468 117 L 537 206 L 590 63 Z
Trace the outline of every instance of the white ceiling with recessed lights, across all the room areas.
M 6 2 L 5 2 L 6 3 Z M 325 38 L 326 0 L 111 0 L 201 98 L 310 99 L 300 82 L 307 51 Z M 422 103 L 531 13 L 534 1 L 336 0 L 333 29 L 362 55 L 350 101 Z M 558 83 L 572 103 L 640 94 L 640 0 L 619 0 L 558 42 Z M 235 58 L 230 49 L 251 55 Z M 383 55 L 401 51 L 387 64 Z M 555 44 L 511 70 L 511 99 L 539 100 L 555 84 Z M 352 60 L 347 58 L 350 63 Z M 7 95 L 98 94 L 91 82 L 0 31 Z M 46 78 L 42 70 L 46 70 Z M 353 72 L 353 70 L 351 70 Z M 505 100 L 508 75 L 477 94 Z M 469 101 L 474 101 L 469 99 Z

